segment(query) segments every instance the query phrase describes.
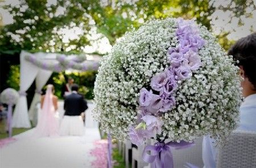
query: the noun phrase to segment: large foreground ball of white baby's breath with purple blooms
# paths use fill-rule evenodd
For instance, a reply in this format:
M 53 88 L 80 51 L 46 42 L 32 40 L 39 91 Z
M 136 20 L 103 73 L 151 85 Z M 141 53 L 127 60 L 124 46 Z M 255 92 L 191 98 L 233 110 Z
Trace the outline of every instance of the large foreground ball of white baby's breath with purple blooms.
M 237 127 L 239 68 L 193 20 L 147 21 L 105 55 L 94 87 L 94 117 L 117 139 L 217 142 Z

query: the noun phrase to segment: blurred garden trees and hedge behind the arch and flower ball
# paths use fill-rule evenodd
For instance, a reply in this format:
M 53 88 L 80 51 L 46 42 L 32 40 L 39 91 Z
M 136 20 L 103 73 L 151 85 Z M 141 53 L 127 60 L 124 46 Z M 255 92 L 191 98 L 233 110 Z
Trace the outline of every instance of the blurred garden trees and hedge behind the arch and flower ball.
M 238 38 L 256 31 L 256 1 L 206 0 L 23 0 L 0 1 L 0 92 L 19 90 L 21 50 L 65 54 L 107 54 L 131 27 L 154 18 L 195 18 L 216 35 L 225 50 Z M 233 29 L 236 28 L 236 29 Z M 86 99 L 93 98 L 96 71 L 53 73 L 48 83 L 61 86 L 71 76 Z M 28 89 L 28 105 L 35 84 Z M 61 97 L 60 97 L 61 98 Z

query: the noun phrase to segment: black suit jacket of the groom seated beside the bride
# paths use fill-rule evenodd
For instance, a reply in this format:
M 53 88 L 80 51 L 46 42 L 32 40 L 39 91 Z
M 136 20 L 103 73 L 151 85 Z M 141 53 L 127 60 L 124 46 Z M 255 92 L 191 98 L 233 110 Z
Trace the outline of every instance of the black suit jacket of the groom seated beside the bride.
M 86 109 L 88 109 L 87 103 L 80 94 L 72 93 L 65 97 L 64 115 L 81 115 Z

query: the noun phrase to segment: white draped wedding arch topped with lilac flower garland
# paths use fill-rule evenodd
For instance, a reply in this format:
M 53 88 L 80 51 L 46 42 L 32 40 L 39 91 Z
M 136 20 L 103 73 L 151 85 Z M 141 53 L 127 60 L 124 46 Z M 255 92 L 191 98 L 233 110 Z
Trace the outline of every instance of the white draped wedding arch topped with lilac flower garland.
M 47 83 L 52 72 L 64 70 L 97 70 L 101 57 L 98 55 L 65 55 L 59 53 L 20 53 L 20 89 L 16 104 L 12 126 L 15 128 L 30 128 L 30 117 L 28 115 L 27 94 L 35 80 L 35 96 L 30 106 L 30 114 L 33 113 L 36 103 L 40 101 L 40 93 Z

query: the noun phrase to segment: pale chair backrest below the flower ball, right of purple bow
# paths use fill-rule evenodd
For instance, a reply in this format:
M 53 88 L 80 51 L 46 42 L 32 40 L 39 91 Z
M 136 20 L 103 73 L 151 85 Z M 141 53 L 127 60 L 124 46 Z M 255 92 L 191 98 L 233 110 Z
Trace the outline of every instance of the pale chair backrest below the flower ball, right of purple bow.
M 193 147 L 185 149 L 172 149 L 174 156 L 174 167 L 185 167 L 187 163 L 191 163 L 197 167 L 203 167 L 202 159 L 202 142 L 203 137 L 197 137 Z

